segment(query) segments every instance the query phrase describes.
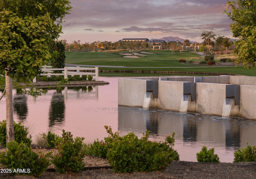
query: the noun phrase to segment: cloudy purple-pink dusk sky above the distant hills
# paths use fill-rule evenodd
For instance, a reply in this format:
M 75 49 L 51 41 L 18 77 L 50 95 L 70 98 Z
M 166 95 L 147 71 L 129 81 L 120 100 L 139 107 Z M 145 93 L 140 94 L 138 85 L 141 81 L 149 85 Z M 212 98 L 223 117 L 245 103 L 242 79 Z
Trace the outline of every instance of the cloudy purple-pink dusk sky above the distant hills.
M 201 42 L 202 30 L 232 38 L 227 0 L 70 0 L 60 39 L 81 43 L 180 37 Z

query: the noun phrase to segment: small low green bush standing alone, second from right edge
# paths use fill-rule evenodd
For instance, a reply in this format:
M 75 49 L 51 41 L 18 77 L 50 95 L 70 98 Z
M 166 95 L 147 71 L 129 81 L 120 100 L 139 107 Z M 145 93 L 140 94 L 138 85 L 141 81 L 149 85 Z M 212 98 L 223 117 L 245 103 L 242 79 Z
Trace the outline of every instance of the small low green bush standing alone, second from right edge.
M 218 155 L 214 154 L 214 148 L 207 150 L 206 146 L 203 146 L 202 150 L 196 153 L 196 159 L 198 162 L 220 162 Z

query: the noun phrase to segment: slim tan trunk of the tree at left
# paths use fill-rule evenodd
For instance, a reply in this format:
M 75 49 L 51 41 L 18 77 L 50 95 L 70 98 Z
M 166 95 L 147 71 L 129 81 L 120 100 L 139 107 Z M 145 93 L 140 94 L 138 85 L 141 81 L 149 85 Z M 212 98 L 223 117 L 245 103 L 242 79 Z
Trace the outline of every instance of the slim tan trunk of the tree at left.
M 13 104 L 12 104 L 12 78 L 5 71 L 6 84 L 6 144 L 14 140 Z

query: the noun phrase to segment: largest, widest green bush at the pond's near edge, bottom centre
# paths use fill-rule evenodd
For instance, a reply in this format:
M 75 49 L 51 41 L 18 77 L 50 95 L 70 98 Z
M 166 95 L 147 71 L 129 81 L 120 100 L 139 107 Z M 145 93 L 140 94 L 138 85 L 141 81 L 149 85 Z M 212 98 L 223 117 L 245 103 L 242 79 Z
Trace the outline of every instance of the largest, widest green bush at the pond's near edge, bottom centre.
M 109 137 L 105 138 L 107 158 L 115 172 L 163 170 L 179 155 L 174 146 L 174 133 L 165 142 L 148 141 L 149 131 L 141 139 L 134 133 L 120 137 L 105 126 Z

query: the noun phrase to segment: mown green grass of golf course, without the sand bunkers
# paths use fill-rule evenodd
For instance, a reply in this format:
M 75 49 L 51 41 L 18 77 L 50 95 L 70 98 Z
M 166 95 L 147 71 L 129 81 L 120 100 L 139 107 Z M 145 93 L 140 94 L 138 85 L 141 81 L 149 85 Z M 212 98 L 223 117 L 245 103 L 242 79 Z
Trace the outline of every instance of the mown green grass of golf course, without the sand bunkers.
M 140 58 L 124 58 L 119 53 L 132 52 L 66 52 L 66 63 L 78 65 L 107 65 L 107 66 L 124 66 L 128 68 L 111 68 L 100 67 L 100 70 L 148 70 L 148 71 L 193 71 L 193 72 L 211 72 L 211 73 L 229 73 L 247 76 L 256 76 L 255 69 L 246 69 L 244 67 L 217 67 L 214 65 L 190 65 L 190 61 L 203 61 L 204 58 L 200 55 L 183 51 L 148 51 L 153 54 L 145 54 Z M 186 63 L 179 63 L 179 59 L 185 59 Z M 217 59 L 217 58 L 216 58 Z M 218 57 L 220 59 L 220 57 Z M 219 63 L 216 60 L 216 63 Z M 139 67 L 139 68 L 133 68 Z M 150 68 L 143 68 L 150 67 Z M 157 68 L 157 67 L 188 67 L 188 68 Z M 191 68 L 196 67 L 196 68 Z

